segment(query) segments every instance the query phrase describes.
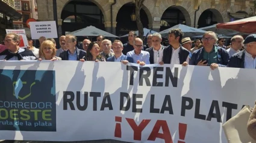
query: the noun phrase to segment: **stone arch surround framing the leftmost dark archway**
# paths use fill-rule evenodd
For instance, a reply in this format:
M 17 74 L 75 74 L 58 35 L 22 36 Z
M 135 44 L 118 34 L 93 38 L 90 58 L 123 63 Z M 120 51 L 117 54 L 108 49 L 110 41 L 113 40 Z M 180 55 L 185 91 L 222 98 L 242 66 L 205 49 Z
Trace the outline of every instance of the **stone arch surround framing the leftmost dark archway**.
M 73 0 L 58 0 L 57 1 L 57 17 L 58 19 L 61 19 L 61 12 L 63 11 L 63 8 L 70 2 L 70 1 L 73 1 Z M 104 10 L 104 8 L 102 7 L 101 5 L 101 1 L 102 0 L 99 0 L 99 1 L 96 1 L 96 0 L 87 0 L 89 2 L 93 2 L 94 4 L 96 4 L 99 9 L 101 10 L 103 16 L 104 16 L 104 19 L 107 20 L 107 16 L 106 16 L 106 11 Z M 104 1 L 104 0 L 103 0 Z M 105 1 L 104 1 L 105 2 Z M 102 2 L 102 4 L 104 4 Z

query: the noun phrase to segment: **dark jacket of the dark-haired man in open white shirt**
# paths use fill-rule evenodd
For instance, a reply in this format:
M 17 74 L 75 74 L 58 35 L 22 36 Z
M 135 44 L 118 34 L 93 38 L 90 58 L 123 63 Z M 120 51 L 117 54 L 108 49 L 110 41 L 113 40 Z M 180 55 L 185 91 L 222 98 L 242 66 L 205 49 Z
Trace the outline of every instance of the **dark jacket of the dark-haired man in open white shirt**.
M 185 47 L 180 47 L 179 52 L 179 58 L 180 58 L 180 64 L 183 64 L 187 60 L 187 56 L 189 56 L 189 50 L 187 50 Z M 172 46 L 168 46 L 164 48 L 163 51 L 163 62 L 164 64 L 170 64 L 170 59 L 172 59 Z

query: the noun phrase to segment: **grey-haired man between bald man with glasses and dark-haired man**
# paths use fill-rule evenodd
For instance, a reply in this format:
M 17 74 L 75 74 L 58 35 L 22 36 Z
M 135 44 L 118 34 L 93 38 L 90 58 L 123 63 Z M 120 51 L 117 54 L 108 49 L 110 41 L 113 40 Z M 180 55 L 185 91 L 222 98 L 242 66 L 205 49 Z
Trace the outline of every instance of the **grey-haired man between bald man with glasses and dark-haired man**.
M 149 52 L 149 62 L 150 64 L 160 64 L 163 61 L 163 49 L 164 46 L 161 45 L 162 37 L 159 33 L 154 33 L 152 36 L 152 47 L 146 49 Z

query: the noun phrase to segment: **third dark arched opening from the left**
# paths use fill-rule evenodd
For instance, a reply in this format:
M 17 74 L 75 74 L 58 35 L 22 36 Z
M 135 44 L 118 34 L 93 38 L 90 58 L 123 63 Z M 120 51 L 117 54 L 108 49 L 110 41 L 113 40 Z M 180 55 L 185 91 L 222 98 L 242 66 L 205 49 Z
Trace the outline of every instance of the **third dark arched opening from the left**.
M 160 23 L 160 31 L 163 31 L 178 24 L 190 26 L 191 20 L 185 8 L 181 6 L 171 6 L 164 11 Z

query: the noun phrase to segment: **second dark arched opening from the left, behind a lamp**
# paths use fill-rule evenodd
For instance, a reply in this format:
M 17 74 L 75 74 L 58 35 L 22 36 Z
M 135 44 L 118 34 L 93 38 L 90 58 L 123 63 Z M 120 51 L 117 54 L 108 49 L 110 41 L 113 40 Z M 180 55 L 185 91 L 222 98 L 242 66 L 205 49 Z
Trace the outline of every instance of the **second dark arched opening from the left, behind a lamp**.
M 140 10 L 140 20 L 144 28 L 148 28 L 148 16 L 143 10 Z M 116 35 L 122 36 L 128 34 L 129 31 L 137 31 L 137 24 L 135 21 L 135 4 L 128 3 L 123 5 L 117 13 L 116 17 Z

